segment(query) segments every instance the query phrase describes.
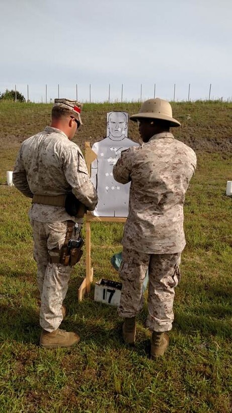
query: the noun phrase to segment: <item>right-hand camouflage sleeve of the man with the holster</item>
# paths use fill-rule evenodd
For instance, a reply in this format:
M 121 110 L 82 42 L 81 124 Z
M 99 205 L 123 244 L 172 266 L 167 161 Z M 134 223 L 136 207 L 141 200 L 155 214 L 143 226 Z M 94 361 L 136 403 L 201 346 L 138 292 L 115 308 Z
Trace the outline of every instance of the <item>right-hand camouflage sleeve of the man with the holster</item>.
M 84 156 L 78 147 L 68 148 L 63 153 L 63 171 L 75 197 L 84 203 L 88 210 L 93 211 L 98 203 L 98 196 Z

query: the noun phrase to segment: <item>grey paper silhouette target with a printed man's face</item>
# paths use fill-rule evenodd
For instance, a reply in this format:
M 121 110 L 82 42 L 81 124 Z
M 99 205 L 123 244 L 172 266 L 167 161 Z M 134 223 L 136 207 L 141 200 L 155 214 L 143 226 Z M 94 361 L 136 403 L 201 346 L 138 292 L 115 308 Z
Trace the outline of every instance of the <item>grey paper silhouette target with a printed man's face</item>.
M 93 212 L 98 217 L 127 217 L 130 183 L 114 180 L 113 166 L 125 149 L 138 146 L 128 137 L 128 113 L 107 112 L 107 133 L 92 149 L 97 159 L 91 166 L 91 179 L 98 192 L 98 204 Z

